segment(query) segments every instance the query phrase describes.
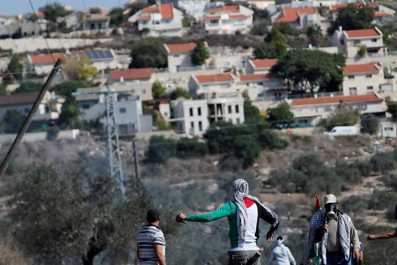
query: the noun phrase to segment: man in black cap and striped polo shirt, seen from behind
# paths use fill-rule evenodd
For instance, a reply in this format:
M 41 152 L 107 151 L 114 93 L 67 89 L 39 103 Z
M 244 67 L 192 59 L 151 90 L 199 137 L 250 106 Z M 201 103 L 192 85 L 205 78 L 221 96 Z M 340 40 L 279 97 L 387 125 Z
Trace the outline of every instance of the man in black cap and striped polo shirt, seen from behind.
M 136 255 L 139 265 L 166 265 L 165 239 L 158 227 L 160 216 L 157 210 L 147 211 L 146 220 L 149 223 L 136 237 Z

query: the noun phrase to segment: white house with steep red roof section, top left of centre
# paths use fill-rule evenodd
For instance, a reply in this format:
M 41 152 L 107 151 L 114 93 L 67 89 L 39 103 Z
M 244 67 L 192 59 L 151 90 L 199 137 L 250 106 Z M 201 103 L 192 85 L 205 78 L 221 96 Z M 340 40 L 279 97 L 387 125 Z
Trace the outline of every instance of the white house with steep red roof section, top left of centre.
M 139 32 L 147 30 L 148 36 L 181 36 L 183 13 L 172 3 L 152 5 L 133 14 L 129 28 Z

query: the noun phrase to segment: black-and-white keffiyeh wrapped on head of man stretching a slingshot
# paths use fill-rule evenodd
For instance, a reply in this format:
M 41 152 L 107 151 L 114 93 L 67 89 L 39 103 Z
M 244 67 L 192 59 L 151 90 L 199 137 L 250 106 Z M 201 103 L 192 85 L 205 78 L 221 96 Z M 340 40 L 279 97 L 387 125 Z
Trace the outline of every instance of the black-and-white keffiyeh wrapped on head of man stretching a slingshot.
M 273 211 L 271 211 L 268 207 L 263 205 L 257 197 L 251 196 L 249 194 L 247 181 L 245 181 L 242 178 L 234 180 L 232 189 L 233 189 L 233 199 L 237 205 L 238 216 L 240 218 L 239 237 L 242 242 L 245 242 L 245 233 L 247 231 L 247 218 L 248 218 L 247 206 L 245 205 L 244 198 L 249 198 L 252 201 L 257 202 L 262 207 L 264 207 L 265 210 L 268 211 L 275 219 L 275 222 L 271 226 L 275 227 L 277 225 L 278 223 L 277 215 Z

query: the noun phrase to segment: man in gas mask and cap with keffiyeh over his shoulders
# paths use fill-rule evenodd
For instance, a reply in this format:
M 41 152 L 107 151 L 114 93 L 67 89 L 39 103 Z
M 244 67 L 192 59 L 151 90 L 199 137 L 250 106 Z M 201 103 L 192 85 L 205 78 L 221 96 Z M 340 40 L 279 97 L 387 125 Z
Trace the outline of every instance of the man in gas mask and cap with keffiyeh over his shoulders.
M 333 194 L 324 198 L 324 204 L 327 210 L 325 215 L 320 210 L 310 220 L 302 264 L 308 264 L 312 244 L 319 243 L 322 265 L 348 265 L 350 244 L 354 250 L 353 258 L 358 260 L 360 257 L 357 231 L 350 217 L 338 210 L 339 205 Z

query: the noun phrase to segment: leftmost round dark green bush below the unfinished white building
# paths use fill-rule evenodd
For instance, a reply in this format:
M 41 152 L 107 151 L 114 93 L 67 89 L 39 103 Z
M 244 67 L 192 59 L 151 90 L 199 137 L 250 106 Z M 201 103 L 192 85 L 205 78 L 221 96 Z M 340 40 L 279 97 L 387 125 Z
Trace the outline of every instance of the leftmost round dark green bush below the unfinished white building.
M 163 163 L 177 154 L 177 143 L 163 136 L 152 136 L 149 140 L 148 158 L 155 163 Z

